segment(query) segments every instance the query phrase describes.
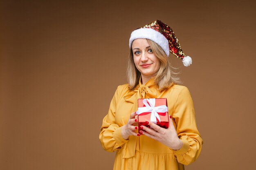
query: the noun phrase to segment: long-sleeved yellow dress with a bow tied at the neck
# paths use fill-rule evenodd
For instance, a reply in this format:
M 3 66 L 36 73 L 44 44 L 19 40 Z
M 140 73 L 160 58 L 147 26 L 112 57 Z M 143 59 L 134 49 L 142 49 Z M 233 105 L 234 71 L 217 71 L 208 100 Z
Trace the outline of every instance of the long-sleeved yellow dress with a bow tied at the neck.
M 130 136 L 128 140 L 121 137 L 121 127 L 137 111 L 139 98 L 167 98 L 168 114 L 172 115 L 177 135 L 183 142 L 180 150 L 172 150 L 145 135 Z M 129 90 L 128 84 L 118 86 L 103 119 L 99 139 L 104 150 L 116 151 L 113 170 L 184 170 L 184 165 L 198 158 L 203 143 L 188 88 L 173 85 L 160 93 L 153 79 L 146 84 L 139 82 L 134 91 Z

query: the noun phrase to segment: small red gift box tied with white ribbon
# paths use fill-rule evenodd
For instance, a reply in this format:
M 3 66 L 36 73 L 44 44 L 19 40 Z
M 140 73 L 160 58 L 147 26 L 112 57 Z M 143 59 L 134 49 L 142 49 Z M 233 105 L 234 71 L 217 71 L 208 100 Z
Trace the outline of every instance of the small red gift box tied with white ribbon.
M 166 98 L 138 99 L 138 126 L 150 126 L 146 121 L 151 121 L 162 128 L 169 127 L 168 108 Z

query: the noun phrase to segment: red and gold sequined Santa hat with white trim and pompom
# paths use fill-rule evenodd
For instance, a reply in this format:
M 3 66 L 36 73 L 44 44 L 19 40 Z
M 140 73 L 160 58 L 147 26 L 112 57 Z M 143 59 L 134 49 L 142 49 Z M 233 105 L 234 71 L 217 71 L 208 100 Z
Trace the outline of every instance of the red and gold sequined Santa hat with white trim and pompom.
M 157 43 L 164 50 L 167 57 L 171 52 L 176 57 L 182 59 L 182 62 L 186 67 L 192 64 L 191 57 L 186 56 L 183 53 L 180 47 L 180 43 L 176 38 L 171 27 L 166 25 L 160 20 L 155 20 L 150 24 L 147 24 L 143 27 L 140 27 L 132 31 L 130 40 L 129 40 L 129 47 L 131 48 L 131 44 L 133 40 L 136 40 L 139 38 L 146 38 Z

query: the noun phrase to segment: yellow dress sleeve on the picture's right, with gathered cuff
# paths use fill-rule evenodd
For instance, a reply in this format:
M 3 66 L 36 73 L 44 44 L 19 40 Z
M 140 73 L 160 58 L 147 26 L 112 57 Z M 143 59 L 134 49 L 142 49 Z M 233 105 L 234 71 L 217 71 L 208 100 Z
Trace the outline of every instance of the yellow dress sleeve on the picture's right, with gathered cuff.
M 198 158 L 203 141 L 196 126 L 193 101 L 186 87 L 182 88 L 177 96 L 173 119 L 177 135 L 183 142 L 182 148 L 174 150 L 174 154 L 178 162 L 188 165 Z

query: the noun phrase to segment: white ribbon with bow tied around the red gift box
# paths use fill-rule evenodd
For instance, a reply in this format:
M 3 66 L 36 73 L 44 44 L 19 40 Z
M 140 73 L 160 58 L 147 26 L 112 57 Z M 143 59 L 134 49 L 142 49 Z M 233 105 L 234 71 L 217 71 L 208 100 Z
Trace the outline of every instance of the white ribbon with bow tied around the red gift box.
M 157 124 L 157 119 L 159 120 L 159 122 L 161 122 L 157 112 L 168 112 L 168 108 L 165 105 L 155 107 L 155 99 L 143 99 L 142 102 L 146 107 L 138 108 L 136 114 L 139 115 L 144 112 L 151 112 L 150 121 L 152 121 L 154 124 Z

